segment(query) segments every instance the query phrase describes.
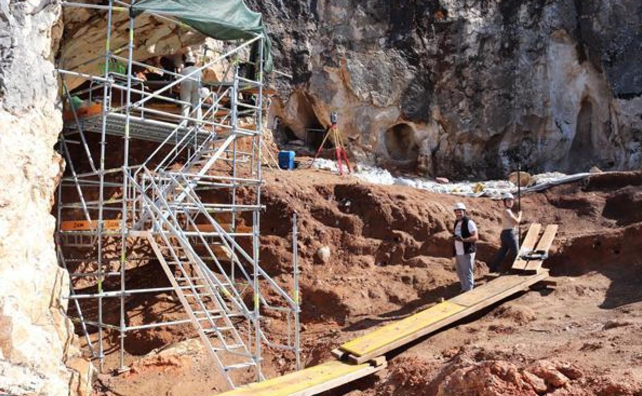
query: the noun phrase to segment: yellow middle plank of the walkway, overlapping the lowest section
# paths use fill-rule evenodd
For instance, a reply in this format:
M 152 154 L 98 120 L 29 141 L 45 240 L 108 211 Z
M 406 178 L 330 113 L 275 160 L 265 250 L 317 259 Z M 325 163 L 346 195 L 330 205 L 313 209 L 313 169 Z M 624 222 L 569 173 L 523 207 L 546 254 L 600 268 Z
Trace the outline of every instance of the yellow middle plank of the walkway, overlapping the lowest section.
M 408 316 L 403 320 L 379 327 L 365 336 L 355 338 L 341 345 L 340 349 L 354 356 L 372 356 L 373 352 L 385 349 L 386 345 L 415 334 L 421 329 L 440 322 L 462 310 L 464 306 L 452 302 L 442 302 L 436 306 L 424 309 L 420 313 Z M 377 356 L 380 354 L 377 354 Z

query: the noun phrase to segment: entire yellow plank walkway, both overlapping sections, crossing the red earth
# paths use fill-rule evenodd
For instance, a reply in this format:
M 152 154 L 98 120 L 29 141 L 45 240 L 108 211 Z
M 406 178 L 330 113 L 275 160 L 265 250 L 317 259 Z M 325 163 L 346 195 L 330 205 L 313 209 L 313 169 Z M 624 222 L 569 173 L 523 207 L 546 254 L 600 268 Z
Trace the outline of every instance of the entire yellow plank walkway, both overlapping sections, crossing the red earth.
M 528 289 L 548 277 L 548 270 L 535 275 L 505 275 L 462 293 L 428 309 L 390 323 L 344 343 L 333 350 L 336 361 L 306 368 L 253 383 L 223 393 L 225 396 L 309 396 L 336 388 L 385 367 L 390 350 L 417 340 L 427 334 L 474 314 L 485 307 Z

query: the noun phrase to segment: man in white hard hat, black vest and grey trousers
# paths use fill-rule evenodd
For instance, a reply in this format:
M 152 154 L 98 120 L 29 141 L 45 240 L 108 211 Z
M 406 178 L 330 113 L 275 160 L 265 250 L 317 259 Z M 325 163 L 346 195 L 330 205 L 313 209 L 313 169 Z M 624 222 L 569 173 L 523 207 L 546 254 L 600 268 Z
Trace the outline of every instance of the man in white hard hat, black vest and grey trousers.
M 466 215 L 466 205 L 462 202 L 455 204 L 455 259 L 457 276 L 462 285 L 462 291 L 471 291 L 474 286 L 473 268 L 475 263 L 476 242 L 478 239 L 477 226 Z

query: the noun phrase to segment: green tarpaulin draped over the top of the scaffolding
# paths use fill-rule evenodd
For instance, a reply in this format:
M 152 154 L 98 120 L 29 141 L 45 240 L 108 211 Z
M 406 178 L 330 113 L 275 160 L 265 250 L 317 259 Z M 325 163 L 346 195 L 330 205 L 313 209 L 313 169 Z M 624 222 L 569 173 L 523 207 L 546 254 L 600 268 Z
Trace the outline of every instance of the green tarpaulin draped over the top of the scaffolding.
M 134 15 L 146 11 L 173 15 L 217 40 L 253 39 L 257 34 L 264 33 L 263 70 L 268 73 L 272 71 L 270 40 L 261 21 L 261 13 L 247 8 L 243 0 L 141 0 L 132 6 Z M 254 46 L 253 51 L 257 51 L 257 48 Z

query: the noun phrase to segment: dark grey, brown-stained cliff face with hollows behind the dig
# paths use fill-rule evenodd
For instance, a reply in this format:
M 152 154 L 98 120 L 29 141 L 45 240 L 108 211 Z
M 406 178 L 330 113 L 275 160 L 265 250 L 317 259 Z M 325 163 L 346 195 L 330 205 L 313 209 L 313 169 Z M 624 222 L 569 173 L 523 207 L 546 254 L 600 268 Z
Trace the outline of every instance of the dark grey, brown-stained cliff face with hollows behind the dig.
M 248 0 L 274 41 L 286 134 L 426 175 L 642 165 L 636 0 Z

